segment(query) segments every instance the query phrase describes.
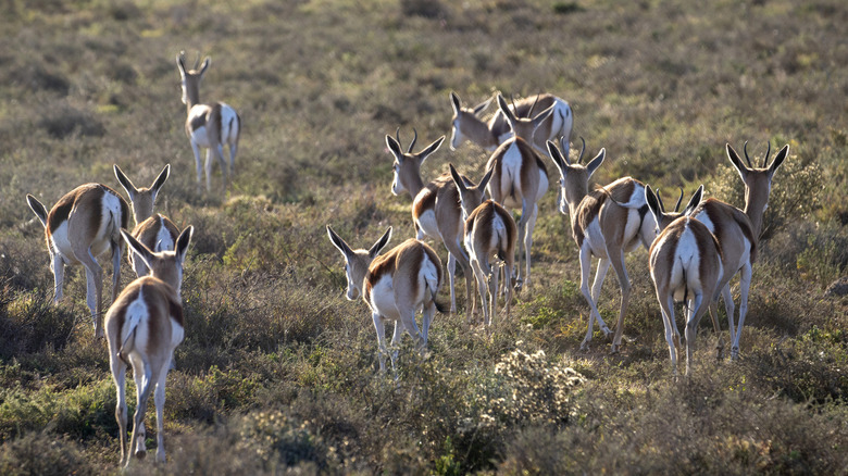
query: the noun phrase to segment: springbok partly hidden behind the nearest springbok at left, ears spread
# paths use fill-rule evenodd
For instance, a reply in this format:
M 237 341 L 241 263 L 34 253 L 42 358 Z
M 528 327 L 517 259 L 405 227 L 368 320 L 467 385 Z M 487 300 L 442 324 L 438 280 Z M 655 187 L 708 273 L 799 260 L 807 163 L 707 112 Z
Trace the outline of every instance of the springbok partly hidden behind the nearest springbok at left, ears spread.
M 171 165 L 165 165 L 150 188 L 136 188 L 133 181 L 124 174 L 117 164 L 114 165 L 115 177 L 121 186 L 124 187 L 129 196 L 129 203 L 133 206 L 133 217 L 136 226 L 133 228 L 133 238 L 142 242 L 153 251 L 173 250 L 176 243 L 177 229 L 174 222 L 167 216 L 157 213 L 153 215 L 153 203 L 157 201 L 159 189 L 165 184 L 171 173 Z M 147 276 L 148 268 L 144 260 L 136 258 L 136 253 L 127 253 L 129 265 L 137 277 Z

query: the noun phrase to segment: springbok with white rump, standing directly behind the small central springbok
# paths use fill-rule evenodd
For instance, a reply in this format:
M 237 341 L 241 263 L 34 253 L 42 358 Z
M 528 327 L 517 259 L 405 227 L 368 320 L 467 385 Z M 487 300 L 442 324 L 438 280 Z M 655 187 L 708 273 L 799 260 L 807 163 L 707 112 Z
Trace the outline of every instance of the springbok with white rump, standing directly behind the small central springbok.
M 507 110 L 507 101 L 498 95 L 498 105 Z M 508 114 L 514 125 L 514 116 Z M 539 213 L 538 201 L 548 191 L 548 170 L 541 158 L 529 142 L 513 137 L 498 146 L 486 163 L 486 170 L 492 170 L 488 191 L 492 200 L 507 209 L 521 209 L 519 220 L 519 273 L 517 288 L 531 284 L 531 247 L 533 229 Z M 521 268 L 521 255 L 524 254 L 525 271 Z

